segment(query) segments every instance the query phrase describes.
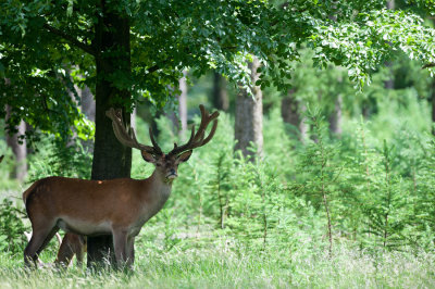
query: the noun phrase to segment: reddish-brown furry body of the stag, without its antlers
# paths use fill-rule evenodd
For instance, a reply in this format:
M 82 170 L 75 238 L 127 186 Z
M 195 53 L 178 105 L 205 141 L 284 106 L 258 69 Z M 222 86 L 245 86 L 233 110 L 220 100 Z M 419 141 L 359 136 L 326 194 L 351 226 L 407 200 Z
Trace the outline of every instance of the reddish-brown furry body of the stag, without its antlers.
M 166 176 L 174 172 L 176 175 L 178 163 L 187 159 L 184 156 L 165 162 L 162 155 L 154 160 L 159 163 L 154 173 L 144 180 L 84 180 L 65 177 L 37 180 L 23 193 L 34 231 L 24 252 L 26 265 L 37 261 L 39 252 L 60 227 L 67 234 L 82 236 L 112 234 L 116 260 L 132 264 L 134 237 L 167 200 L 173 179 Z M 61 246 L 58 262 L 67 265 L 74 253 L 80 252 L 80 246 L 65 241 Z M 78 243 L 83 243 L 83 239 Z M 80 254 L 77 256 L 80 257 Z

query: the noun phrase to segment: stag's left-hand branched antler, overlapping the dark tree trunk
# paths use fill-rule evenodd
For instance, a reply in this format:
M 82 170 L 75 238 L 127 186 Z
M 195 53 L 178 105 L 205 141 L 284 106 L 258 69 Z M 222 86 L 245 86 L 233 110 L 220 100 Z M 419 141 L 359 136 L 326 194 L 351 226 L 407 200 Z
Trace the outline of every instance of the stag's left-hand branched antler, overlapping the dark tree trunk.
M 162 150 L 160 149 L 160 147 L 157 144 L 157 141 L 154 140 L 151 127 L 149 128 L 149 134 L 150 134 L 151 142 L 152 142 L 152 147 L 139 143 L 136 139 L 136 134 L 133 128 L 130 128 L 132 135 L 128 134 L 128 131 L 126 130 L 126 128 L 124 126 L 121 111 L 115 111 L 112 108 L 105 112 L 105 115 L 112 120 L 113 133 L 115 134 L 117 140 L 121 143 L 123 143 L 124 146 L 134 148 L 134 149 L 138 149 L 141 151 L 146 151 L 146 152 L 152 153 L 154 155 L 163 153 Z

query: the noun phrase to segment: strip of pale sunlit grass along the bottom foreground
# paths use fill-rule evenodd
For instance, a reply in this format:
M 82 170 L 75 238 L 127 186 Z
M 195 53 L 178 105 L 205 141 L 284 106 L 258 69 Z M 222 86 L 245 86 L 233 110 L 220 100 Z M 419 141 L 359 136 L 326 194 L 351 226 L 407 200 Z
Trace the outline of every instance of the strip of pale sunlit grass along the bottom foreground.
M 52 253 L 44 255 L 53 260 Z M 21 256 L 0 253 L 0 288 L 435 288 L 435 254 L 261 252 L 225 246 L 170 252 L 138 248 L 133 272 L 22 269 Z

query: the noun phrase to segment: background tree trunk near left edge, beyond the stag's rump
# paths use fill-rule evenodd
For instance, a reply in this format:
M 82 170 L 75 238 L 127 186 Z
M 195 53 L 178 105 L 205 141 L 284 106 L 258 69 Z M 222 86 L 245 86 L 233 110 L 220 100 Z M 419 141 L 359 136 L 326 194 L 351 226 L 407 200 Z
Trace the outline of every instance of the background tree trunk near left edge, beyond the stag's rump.
M 11 106 L 7 105 L 7 120 L 11 116 Z M 20 136 L 24 136 L 26 133 L 26 123 L 21 121 L 20 124 L 15 127 L 16 133 L 13 135 L 7 135 L 7 144 L 12 149 L 12 152 L 15 155 L 15 166 L 12 177 L 17 178 L 20 181 L 23 181 L 27 176 L 27 148 L 26 148 L 26 139 L 20 138 Z

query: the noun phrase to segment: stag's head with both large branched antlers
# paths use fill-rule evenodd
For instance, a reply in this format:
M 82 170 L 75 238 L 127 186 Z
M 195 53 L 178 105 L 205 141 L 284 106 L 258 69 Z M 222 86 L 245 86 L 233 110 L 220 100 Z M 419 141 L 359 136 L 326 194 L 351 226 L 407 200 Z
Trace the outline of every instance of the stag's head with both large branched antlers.
M 195 126 L 192 126 L 189 140 L 183 146 L 174 143 L 174 149 L 166 154 L 162 152 L 157 143 L 151 127 L 149 128 L 149 135 L 152 147 L 139 143 L 133 129 L 130 129 L 130 134 L 127 131 L 120 111 L 110 109 L 105 114 L 113 121 L 113 131 L 120 142 L 126 147 L 140 150 L 144 160 L 154 164 L 156 171 L 167 181 L 172 181 L 177 177 L 179 163 L 189 160 L 192 150 L 208 143 L 213 138 L 216 130 L 219 112 L 209 114 L 202 104 L 199 105 L 199 109 L 201 111 L 201 124 L 198 130 L 196 131 Z M 206 138 L 206 129 L 212 121 L 213 126 L 209 136 Z

